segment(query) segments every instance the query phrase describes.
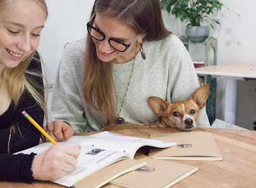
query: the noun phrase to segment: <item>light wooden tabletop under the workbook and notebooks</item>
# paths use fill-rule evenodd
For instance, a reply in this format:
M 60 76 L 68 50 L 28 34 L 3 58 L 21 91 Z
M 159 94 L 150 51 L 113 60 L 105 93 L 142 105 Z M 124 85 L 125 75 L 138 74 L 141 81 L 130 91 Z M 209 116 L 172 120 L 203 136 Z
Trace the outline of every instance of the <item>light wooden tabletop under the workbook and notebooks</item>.
M 193 131 L 211 132 L 220 149 L 223 161 L 176 161 L 181 164 L 198 166 L 195 174 L 178 182 L 172 188 L 216 188 L 216 187 L 256 187 L 256 131 L 239 129 L 195 128 Z M 174 128 L 148 128 L 137 130 L 111 131 L 126 136 L 149 138 L 157 132 L 180 132 Z M 97 132 L 84 135 L 95 134 Z M 157 181 L 157 180 L 156 180 Z M 33 184 L 19 182 L 0 182 L 4 188 L 63 188 L 52 182 L 36 181 Z M 107 184 L 104 188 L 117 188 Z

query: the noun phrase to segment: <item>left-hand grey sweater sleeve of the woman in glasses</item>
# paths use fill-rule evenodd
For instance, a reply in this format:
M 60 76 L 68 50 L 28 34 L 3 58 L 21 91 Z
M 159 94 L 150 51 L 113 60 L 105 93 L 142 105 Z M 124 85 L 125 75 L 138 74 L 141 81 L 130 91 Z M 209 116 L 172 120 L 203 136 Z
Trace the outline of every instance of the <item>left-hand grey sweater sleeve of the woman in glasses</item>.
M 56 71 L 55 83 L 53 85 L 53 96 L 51 99 L 51 116 L 53 119 L 67 122 L 72 126 L 74 133 L 85 132 L 88 122 L 85 110 L 82 106 L 82 86 L 78 84 L 77 69 L 83 69 L 83 65 L 78 64 L 84 54 L 78 54 L 77 46 L 70 42 L 63 52 L 58 70 Z

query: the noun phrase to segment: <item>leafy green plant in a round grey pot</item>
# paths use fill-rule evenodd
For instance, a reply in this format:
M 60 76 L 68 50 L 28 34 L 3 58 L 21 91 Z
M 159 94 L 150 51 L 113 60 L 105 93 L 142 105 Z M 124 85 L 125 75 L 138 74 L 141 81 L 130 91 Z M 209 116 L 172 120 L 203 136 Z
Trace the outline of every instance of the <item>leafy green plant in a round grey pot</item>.
M 192 42 L 203 42 L 209 36 L 209 27 L 201 26 L 202 22 L 220 24 L 211 16 L 221 10 L 223 4 L 218 0 L 161 0 L 161 9 L 188 22 L 186 36 Z

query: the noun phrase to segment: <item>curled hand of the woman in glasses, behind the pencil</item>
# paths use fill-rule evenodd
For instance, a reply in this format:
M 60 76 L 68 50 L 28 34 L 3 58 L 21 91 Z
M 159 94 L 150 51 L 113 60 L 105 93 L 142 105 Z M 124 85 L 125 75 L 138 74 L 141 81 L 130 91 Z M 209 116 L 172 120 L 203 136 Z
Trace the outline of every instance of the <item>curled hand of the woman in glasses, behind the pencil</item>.
M 65 139 L 69 139 L 73 133 L 73 128 L 60 120 L 55 120 L 54 122 L 49 122 L 46 126 L 43 127 L 43 129 L 56 141 L 63 141 Z M 48 139 L 46 139 L 45 136 L 41 136 L 43 142 L 49 142 Z

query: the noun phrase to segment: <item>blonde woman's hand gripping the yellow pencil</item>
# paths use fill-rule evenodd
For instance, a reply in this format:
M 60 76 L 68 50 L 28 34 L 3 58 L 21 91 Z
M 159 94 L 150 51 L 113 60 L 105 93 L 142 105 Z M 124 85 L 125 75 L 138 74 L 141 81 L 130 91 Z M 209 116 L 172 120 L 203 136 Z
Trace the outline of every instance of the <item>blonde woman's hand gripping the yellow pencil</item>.
M 77 165 L 80 146 L 55 145 L 35 155 L 31 171 L 34 179 L 53 181 L 72 172 Z

